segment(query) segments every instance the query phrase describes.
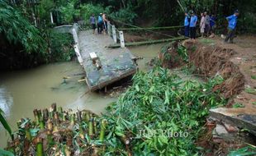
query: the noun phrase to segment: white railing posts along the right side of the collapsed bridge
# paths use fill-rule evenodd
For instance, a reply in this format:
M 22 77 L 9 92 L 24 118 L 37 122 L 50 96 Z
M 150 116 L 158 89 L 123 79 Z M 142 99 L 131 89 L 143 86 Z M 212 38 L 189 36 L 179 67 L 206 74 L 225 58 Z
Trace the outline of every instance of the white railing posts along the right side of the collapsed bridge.
M 121 48 L 125 48 L 125 36 L 122 30 L 117 30 L 115 25 L 107 22 L 107 33 L 111 36 L 115 43 L 120 43 Z

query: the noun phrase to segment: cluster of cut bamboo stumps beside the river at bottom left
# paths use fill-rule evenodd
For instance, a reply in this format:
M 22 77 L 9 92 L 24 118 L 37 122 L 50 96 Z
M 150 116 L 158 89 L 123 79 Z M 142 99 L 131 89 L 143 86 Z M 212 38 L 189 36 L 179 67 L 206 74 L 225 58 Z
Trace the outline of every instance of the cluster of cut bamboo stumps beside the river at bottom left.
M 7 150 L 15 155 L 98 155 L 107 120 L 88 110 L 63 111 L 53 103 L 50 109 L 35 109 L 35 119 L 21 118 L 17 135 Z

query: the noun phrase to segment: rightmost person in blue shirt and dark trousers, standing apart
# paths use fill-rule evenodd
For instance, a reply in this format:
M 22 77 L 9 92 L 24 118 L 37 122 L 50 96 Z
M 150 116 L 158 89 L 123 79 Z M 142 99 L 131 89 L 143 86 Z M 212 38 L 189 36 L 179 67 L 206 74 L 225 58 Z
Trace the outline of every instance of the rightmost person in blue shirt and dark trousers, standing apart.
M 230 40 L 230 44 L 233 44 L 233 39 L 235 36 L 235 27 L 236 27 L 238 16 L 239 16 L 239 11 L 236 10 L 234 15 L 226 17 L 226 20 L 229 22 L 229 26 L 228 26 L 228 34 L 224 40 L 225 43 L 227 43 Z

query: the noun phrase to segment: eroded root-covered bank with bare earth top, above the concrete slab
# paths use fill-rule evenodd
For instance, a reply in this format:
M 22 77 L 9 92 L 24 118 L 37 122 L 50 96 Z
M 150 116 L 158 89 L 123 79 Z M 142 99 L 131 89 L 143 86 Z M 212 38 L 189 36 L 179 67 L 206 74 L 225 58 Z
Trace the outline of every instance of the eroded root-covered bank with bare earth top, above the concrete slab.
M 244 48 L 239 48 L 239 45 L 221 44 L 218 39 L 198 39 L 196 43 L 186 40 L 182 45 L 169 44 L 159 54 L 164 67 L 183 67 L 187 64 L 184 61 L 186 54 L 178 52 L 179 46 L 187 49 L 186 61 L 192 66 L 193 72 L 206 77 L 223 77 L 224 82 L 217 85 L 216 89 L 220 89 L 225 98 L 241 94 L 247 97 L 245 99 L 255 100 L 255 94 L 244 93 L 245 88 L 254 90 L 256 87 L 256 80 L 252 78 L 256 69 L 256 53 L 253 49 L 244 53 Z

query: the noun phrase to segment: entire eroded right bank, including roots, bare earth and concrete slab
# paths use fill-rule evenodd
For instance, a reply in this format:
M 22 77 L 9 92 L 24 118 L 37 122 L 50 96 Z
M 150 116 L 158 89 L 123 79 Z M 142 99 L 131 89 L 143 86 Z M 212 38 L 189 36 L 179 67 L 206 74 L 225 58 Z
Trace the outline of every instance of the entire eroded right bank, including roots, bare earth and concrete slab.
M 218 38 L 186 40 L 168 44 L 159 53 L 164 67 L 189 65 L 197 75 L 224 79 L 214 90 L 220 89 L 229 103 L 210 110 L 208 132 L 198 140 L 198 145 L 213 151 L 209 155 L 226 155 L 228 149 L 243 147 L 244 142 L 256 144 L 256 38 L 236 40 L 238 44 L 223 44 Z M 249 133 L 242 135 L 244 130 Z

